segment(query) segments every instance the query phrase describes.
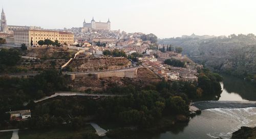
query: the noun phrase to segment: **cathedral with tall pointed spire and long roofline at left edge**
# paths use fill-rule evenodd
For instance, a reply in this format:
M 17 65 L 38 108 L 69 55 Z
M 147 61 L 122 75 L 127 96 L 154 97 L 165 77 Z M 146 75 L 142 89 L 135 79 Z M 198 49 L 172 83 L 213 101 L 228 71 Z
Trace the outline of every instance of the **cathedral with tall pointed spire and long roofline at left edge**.
M 20 26 L 20 25 L 7 25 L 4 9 L 1 13 L 1 32 L 12 33 L 17 30 L 41 30 L 41 27 L 37 26 Z

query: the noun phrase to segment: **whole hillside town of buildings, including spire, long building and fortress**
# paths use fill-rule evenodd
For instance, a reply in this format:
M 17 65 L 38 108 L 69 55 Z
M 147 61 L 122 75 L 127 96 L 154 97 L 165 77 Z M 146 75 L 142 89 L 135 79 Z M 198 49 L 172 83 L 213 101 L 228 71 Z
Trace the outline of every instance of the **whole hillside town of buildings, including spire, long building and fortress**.
M 186 55 L 175 51 L 162 52 L 158 50 L 163 46 L 143 41 L 143 33 L 126 33 L 124 31 L 111 30 L 111 22 L 96 22 L 94 18 L 90 23 L 83 21 L 81 27 L 71 29 L 44 30 L 33 26 L 8 26 L 4 10 L 2 10 L 0 37 L 6 39 L 9 45 L 22 43 L 31 47 L 38 47 L 39 40 L 58 40 L 60 44 L 66 44 L 71 49 L 83 49 L 84 53 L 79 57 L 102 57 L 104 50 L 123 50 L 127 55 L 134 52 L 143 54 L 139 62 L 151 69 L 165 80 L 197 81 L 197 64 L 186 63 L 186 68 L 172 67 L 163 64 L 167 59 L 186 60 Z M 103 46 L 97 46 L 101 44 Z M 155 47 L 155 48 L 153 48 Z M 155 57 L 157 55 L 157 57 Z

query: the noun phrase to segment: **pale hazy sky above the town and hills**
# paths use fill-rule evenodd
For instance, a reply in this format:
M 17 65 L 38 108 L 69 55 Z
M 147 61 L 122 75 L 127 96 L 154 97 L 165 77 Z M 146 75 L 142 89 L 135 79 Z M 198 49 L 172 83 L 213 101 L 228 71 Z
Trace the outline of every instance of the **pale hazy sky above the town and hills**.
M 7 24 L 44 29 L 108 21 L 112 30 L 181 35 L 256 34 L 255 0 L 1 0 Z

